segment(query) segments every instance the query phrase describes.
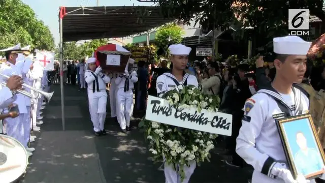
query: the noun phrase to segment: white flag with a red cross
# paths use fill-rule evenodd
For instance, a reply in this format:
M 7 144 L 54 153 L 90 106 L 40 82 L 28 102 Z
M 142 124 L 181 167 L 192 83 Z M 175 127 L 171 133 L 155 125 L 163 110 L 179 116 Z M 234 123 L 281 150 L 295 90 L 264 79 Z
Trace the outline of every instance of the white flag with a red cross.
M 46 71 L 54 70 L 54 52 L 51 51 L 40 51 L 36 52 L 36 60 L 40 62 L 40 65 Z

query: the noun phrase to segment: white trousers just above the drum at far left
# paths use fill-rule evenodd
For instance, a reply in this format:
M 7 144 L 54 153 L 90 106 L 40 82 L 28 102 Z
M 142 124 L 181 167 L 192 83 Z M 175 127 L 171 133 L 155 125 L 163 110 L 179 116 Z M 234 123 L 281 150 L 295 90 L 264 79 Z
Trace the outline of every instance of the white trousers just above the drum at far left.
M 8 117 L 7 121 L 7 135 L 15 138 L 21 144 L 24 144 L 24 126 L 23 120 L 25 119 L 25 113 L 20 113 L 19 116 L 15 118 Z

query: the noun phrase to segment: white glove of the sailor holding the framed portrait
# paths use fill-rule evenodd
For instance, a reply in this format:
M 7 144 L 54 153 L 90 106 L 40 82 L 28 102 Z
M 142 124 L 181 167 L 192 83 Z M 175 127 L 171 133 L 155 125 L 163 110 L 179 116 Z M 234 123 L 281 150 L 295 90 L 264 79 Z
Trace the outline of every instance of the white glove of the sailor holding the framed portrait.
M 285 183 L 309 183 L 303 175 L 298 175 L 295 180 L 290 170 L 284 163 L 276 163 L 272 168 L 272 174 L 284 180 Z

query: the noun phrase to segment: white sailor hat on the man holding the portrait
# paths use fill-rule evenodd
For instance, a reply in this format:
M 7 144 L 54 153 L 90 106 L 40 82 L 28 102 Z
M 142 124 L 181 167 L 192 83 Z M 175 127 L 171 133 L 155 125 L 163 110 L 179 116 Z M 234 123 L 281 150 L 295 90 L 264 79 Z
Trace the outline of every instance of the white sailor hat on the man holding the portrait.
M 306 55 L 311 42 L 304 41 L 298 36 L 273 38 L 273 51 L 277 54 Z

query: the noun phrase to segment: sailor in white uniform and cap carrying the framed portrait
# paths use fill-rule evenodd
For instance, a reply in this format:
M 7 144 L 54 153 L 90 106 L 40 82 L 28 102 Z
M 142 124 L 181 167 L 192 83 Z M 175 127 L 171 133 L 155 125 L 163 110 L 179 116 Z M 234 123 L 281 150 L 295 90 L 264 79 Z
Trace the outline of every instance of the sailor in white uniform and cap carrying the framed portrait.
M 274 38 L 272 87 L 259 90 L 245 103 L 236 152 L 254 167 L 253 183 L 309 182 L 303 175 L 295 180 L 288 169 L 275 119 L 308 112 L 305 91 L 293 84 L 304 78 L 310 44 L 297 36 Z

